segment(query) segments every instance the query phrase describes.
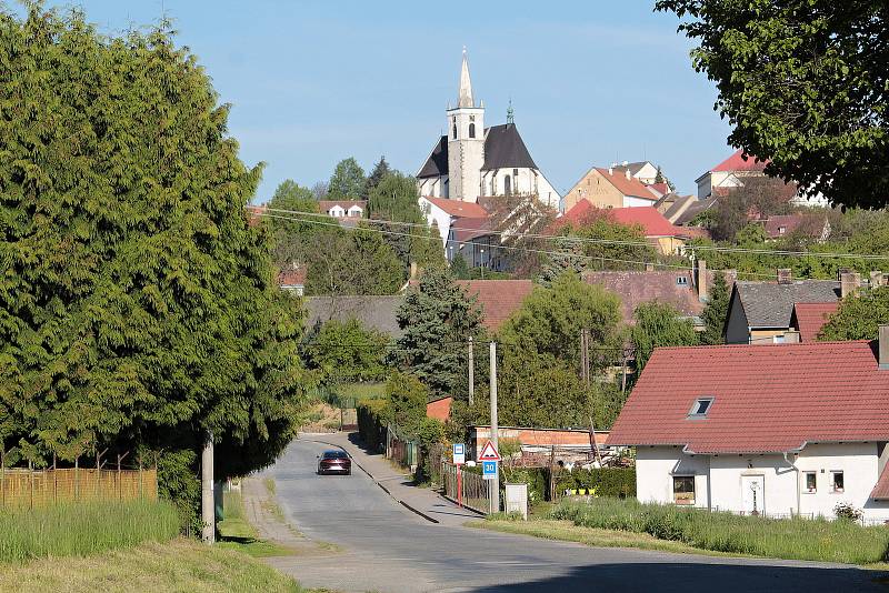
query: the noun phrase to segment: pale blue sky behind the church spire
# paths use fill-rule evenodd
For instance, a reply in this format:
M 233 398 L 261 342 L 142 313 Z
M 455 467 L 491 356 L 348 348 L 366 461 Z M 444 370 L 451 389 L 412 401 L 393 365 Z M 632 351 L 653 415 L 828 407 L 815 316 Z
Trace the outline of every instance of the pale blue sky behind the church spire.
M 70 2 L 49 2 L 67 6 Z M 283 179 L 327 179 L 354 155 L 414 173 L 456 101 L 467 46 L 486 124 L 512 99 L 531 155 L 559 190 L 589 167 L 648 159 L 682 192 L 731 150 L 713 86 L 653 0 L 368 2 L 83 0 L 103 32 L 174 19 L 233 104 L 248 164 L 268 163 L 254 201 Z

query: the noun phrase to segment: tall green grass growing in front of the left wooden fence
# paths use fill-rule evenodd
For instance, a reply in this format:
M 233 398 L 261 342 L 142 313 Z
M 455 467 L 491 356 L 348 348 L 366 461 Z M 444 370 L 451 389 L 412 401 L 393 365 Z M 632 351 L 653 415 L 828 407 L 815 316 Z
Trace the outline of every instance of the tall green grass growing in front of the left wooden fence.
M 94 502 L 34 510 L 0 510 L 0 563 L 48 556 L 86 556 L 168 542 L 179 534 L 179 515 L 166 502 Z M 2 587 L 0 587 L 1 590 Z

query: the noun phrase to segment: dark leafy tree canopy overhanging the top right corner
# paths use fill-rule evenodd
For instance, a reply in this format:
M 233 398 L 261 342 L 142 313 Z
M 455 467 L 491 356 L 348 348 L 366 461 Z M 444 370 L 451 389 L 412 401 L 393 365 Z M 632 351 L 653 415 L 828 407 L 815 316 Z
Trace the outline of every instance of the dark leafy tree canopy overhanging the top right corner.
M 889 10 L 880 0 L 658 0 L 696 39 L 729 143 L 833 204 L 889 195 Z

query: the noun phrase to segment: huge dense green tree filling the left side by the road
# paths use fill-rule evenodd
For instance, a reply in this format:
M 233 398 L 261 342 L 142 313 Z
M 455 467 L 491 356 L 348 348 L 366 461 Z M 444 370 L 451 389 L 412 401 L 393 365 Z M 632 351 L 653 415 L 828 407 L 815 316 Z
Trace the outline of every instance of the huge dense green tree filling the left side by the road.
M 204 434 L 217 479 L 244 474 L 302 402 L 299 309 L 244 217 L 260 169 L 167 23 L 106 38 L 38 2 L 0 14 L 0 44 L 7 462 L 162 451 L 161 492 L 193 521 Z

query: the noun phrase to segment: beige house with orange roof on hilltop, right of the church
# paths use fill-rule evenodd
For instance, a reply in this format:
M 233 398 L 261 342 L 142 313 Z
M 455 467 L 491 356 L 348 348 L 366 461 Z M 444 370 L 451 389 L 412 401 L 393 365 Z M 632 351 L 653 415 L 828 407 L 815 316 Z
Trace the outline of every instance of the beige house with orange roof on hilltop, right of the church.
M 593 167 L 565 194 L 562 210 L 568 212 L 585 200 L 596 208 L 655 205 L 661 197 L 635 178 L 628 168 Z

